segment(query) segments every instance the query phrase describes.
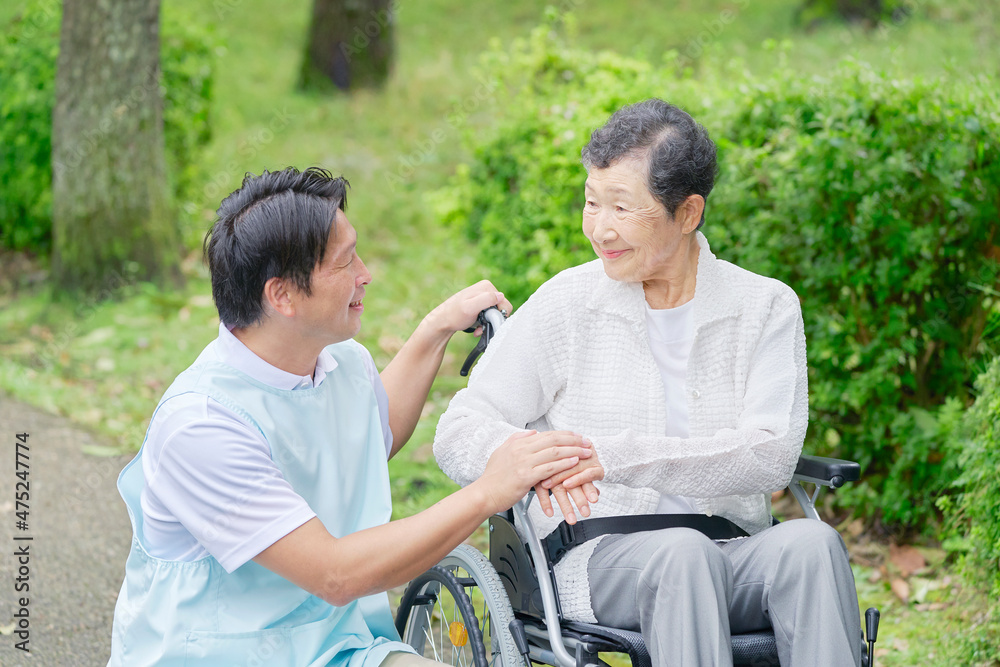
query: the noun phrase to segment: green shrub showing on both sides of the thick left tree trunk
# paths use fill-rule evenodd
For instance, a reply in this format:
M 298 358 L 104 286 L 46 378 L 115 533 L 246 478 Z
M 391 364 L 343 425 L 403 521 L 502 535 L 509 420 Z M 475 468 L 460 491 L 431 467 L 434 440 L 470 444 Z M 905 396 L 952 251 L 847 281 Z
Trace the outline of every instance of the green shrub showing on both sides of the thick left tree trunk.
M 61 4 L 37 0 L 0 33 L 0 245 L 47 254 L 52 229 L 52 108 Z M 199 21 L 164 12 L 161 90 L 167 166 L 188 199 L 210 138 L 212 40 Z

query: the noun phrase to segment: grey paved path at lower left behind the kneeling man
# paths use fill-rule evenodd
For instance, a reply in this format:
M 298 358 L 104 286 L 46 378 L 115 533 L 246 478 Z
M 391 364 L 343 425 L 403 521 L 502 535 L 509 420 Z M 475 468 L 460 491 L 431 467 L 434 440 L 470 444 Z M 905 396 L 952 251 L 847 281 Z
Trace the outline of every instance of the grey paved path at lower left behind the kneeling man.
M 29 529 L 15 528 L 15 434 L 29 434 Z M 102 444 L 68 420 L 0 394 L 0 665 L 106 665 L 111 619 L 125 573 L 131 528 L 115 481 L 129 457 L 81 451 Z M 31 536 L 32 541 L 14 540 Z M 30 549 L 30 591 L 16 593 L 14 552 Z M 27 595 L 30 654 L 10 632 L 17 598 Z

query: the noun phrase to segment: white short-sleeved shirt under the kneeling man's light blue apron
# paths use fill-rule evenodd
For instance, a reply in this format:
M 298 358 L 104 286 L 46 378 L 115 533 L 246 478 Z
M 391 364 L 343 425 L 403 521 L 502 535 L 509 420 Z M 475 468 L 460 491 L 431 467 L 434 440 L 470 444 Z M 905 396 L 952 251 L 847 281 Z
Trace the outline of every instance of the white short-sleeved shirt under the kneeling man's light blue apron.
M 367 350 L 364 356 L 388 458 L 389 399 Z M 288 373 L 251 352 L 225 325 L 199 359 L 222 362 L 284 390 L 319 386 L 337 367 L 323 350 L 312 376 Z M 153 416 L 143 448 L 143 532 L 146 549 L 156 558 L 194 561 L 211 555 L 232 572 L 316 516 L 284 479 L 261 434 L 208 396 L 183 394 L 168 401 Z M 225 525 L 206 522 L 207 516 L 225 516 Z

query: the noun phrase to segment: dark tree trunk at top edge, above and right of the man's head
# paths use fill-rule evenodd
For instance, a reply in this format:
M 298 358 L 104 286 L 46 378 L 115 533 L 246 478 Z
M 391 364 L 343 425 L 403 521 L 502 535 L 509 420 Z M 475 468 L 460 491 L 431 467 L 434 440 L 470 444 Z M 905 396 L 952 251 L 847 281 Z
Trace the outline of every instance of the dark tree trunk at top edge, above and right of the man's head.
M 393 0 L 313 0 L 299 86 L 378 87 L 393 55 Z

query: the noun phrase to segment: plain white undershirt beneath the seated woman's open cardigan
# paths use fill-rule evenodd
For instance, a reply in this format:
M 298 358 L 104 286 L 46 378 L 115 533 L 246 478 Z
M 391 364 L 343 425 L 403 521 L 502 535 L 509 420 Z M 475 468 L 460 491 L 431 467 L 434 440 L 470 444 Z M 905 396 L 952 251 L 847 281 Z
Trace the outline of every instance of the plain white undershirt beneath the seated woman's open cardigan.
M 684 388 L 688 357 L 694 342 L 694 301 L 664 310 L 654 310 L 647 303 L 646 329 L 649 331 L 649 347 L 660 369 L 667 397 L 667 429 L 664 435 L 687 438 L 690 432 Z M 696 510 L 690 499 L 684 496 L 663 494 L 656 511 L 659 514 L 691 514 Z

